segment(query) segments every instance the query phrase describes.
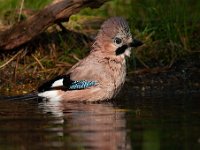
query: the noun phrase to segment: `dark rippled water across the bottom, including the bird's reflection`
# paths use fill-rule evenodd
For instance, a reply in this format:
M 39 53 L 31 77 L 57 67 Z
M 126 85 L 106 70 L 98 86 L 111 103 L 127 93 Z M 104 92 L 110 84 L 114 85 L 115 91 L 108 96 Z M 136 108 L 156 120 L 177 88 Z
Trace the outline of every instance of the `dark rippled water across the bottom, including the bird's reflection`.
M 0 101 L 0 149 L 200 149 L 200 94 L 115 102 Z

